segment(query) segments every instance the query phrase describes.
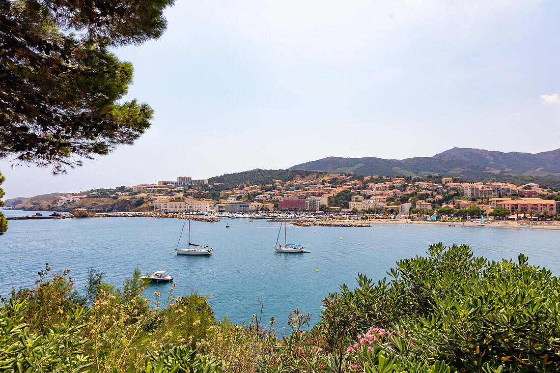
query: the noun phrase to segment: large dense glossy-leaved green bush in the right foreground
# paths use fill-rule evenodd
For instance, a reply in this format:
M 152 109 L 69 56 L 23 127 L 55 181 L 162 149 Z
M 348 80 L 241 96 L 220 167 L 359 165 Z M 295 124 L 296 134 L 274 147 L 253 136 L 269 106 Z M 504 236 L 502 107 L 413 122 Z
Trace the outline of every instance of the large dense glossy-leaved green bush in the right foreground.
M 560 283 L 524 255 L 488 262 L 440 243 L 389 274 L 376 285 L 359 274 L 355 290 L 324 300 L 320 325 L 337 343 L 376 325 L 397 330 L 384 347 L 409 371 L 440 360 L 461 372 L 558 370 Z

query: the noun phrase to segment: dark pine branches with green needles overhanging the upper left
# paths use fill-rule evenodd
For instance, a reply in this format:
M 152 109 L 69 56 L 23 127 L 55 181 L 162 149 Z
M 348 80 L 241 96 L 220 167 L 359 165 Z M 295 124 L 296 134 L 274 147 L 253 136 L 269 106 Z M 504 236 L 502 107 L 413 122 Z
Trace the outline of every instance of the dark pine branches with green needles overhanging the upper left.
M 159 38 L 173 3 L 0 0 L 0 159 L 59 174 L 141 136 L 153 110 L 120 101 L 132 64 L 109 50 Z

